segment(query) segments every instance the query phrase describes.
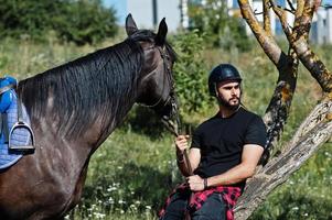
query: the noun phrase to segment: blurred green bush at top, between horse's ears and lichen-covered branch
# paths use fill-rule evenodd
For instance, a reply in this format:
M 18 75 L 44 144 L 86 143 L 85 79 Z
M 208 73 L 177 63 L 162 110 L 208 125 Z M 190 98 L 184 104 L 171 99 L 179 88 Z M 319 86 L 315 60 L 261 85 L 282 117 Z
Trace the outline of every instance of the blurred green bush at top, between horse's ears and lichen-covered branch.
M 200 34 L 204 33 L 205 41 L 212 46 L 248 51 L 250 44 L 245 25 L 239 18 L 228 15 L 226 3 L 219 0 L 207 0 L 204 4 L 190 3 L 191 26 L 197 29 Z

